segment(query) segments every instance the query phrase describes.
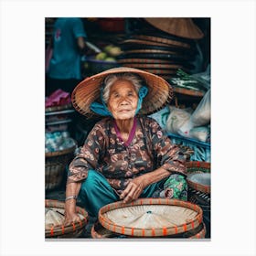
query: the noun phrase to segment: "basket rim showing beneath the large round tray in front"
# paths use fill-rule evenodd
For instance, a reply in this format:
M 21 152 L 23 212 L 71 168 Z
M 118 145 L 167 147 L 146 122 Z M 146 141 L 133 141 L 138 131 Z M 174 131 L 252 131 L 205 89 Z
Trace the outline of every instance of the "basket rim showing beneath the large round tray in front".
M 196 229 L 192 229 L 187 232 L 183 232 L 176 235 L 165 236 L 165 238 L 204 239 L 205 236 L 206 236 L 206 226 L 204 223 L 200 223 L 200 225 Z M 91 238 L 92 239 L 131 239 L 134 237 L 114 233 L 111 230 L 103 228 L 101 224 L 97 222 L 97 223 L 94 223 L 91 227 Z M 151 237 L 151 238 L 154 238 L 154 237 Z M 140 239 L 140 237 L 138 237 L 138 239 Z

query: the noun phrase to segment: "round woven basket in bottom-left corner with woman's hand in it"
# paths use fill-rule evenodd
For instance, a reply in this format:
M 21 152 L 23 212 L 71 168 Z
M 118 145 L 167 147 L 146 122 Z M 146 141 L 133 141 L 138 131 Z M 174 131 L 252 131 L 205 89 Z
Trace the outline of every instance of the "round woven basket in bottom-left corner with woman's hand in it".
M 45 208 L 46 238 L 78 238 L 89 220 L 87 211 L 83 208 L 76 207 L 76 212 L 80 216 L 80 221 L 64 226 L 64 202 L 46 199 Z

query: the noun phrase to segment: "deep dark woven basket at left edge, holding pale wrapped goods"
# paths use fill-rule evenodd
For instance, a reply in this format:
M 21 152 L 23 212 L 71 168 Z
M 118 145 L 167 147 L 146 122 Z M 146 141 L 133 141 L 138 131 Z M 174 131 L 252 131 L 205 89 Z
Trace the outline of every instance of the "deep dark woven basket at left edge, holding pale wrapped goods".
M 72 159 L 77 145 L 65 150 L 48 152 L 45 155 L 45 189 L 58 188 L 65 176 L 66 165 Z

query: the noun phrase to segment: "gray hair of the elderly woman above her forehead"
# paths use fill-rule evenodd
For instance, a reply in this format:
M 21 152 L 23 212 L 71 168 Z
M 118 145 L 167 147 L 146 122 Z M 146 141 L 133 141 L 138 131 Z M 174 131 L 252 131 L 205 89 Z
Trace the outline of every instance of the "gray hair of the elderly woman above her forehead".
M 111 74 L 108 75 L 105 80 L 104 80 L 104 88 L 102 91 L 102 100 L 107 103 L 110 99 L 110 91 L 112 85 L 117 81 L 117 80 L 128 80 L 130 81 L 137 94 L 139 93 L 139 90 L 142 87 L 142 80 L 139 76 L 132 74 L 132 73 L 118 73 L 118 74 Z

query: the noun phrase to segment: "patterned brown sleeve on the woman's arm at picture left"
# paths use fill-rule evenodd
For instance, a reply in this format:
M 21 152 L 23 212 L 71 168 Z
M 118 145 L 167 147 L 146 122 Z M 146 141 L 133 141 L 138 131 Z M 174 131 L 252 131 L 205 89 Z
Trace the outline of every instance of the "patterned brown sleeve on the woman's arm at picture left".
M 104 144 L 104 136 L 101 131 L 101 126 L 95 125 L 91 133 L 88 134 L 85 143 L 69 164 L 67 184 L 85 180 L 88 171 L 96 169 Z

